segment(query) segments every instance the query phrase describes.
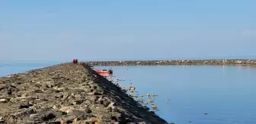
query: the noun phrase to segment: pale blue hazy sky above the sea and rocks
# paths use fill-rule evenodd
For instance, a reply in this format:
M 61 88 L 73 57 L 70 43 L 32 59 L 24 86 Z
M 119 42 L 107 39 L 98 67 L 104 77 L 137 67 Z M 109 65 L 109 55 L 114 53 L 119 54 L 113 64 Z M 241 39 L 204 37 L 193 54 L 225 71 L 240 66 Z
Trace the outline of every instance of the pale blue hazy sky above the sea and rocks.
M 255 0 L 1 0 L 2 60 L 256 58 Z

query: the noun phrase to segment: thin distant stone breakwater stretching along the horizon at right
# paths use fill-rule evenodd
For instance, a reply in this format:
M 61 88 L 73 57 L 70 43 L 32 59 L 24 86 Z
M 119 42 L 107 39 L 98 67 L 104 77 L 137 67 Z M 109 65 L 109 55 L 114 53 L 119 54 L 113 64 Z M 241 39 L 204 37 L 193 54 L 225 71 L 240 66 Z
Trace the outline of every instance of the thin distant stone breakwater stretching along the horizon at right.
M 134 65 L 256 65 L 256 60 L 124 60 L 124 61 L 85 61 L 92 66 L 134 66 Z

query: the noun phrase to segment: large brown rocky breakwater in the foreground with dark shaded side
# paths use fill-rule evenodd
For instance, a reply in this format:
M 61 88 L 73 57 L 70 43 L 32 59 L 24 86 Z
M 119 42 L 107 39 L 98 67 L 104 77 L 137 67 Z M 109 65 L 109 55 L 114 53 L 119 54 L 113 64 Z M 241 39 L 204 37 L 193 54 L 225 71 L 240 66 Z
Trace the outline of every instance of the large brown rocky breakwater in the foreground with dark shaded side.
M 2 123 L 167 123 L 80 64 L 1 77 L 0 110 Z

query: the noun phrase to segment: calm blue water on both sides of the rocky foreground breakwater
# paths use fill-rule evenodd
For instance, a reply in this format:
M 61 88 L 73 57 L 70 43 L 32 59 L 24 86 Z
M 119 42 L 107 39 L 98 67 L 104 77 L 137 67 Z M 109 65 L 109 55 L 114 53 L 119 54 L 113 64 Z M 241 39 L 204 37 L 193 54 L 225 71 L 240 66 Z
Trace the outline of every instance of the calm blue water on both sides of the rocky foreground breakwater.
M 57 63 L 0 63 L 0 76 Z M 123 66 L 112 79 L 136 87 L 135 95 L 155 94 L 155 111 L 176 124 L 256 123 L 256 67 Z M 145 101 L 149 98 L 143 97 Z M 168 101 L 166 103 L 165 101 Z M 151 107 L 151 105 L 148 105 Z M 207 114 L 206 114 L 207 113 Z

